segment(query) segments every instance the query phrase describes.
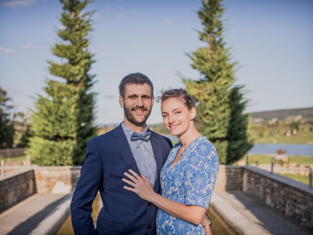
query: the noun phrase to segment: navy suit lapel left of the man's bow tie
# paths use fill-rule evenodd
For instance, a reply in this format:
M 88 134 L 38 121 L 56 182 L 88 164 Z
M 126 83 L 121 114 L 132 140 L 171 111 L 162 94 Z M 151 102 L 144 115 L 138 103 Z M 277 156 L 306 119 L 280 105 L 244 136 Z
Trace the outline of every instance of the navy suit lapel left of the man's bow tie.
M 140 175 L 131 147 L 129 146 L 121 124 L 115 129 L 114 137 L 115 144 L 127 168 L 134 170 L 137 174 Z

